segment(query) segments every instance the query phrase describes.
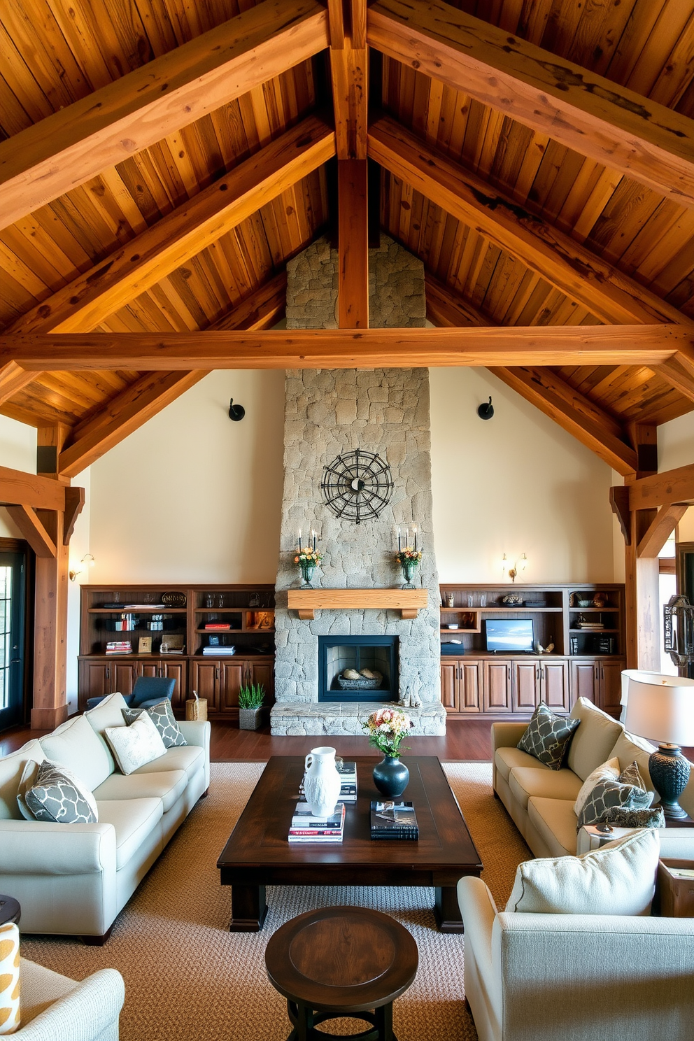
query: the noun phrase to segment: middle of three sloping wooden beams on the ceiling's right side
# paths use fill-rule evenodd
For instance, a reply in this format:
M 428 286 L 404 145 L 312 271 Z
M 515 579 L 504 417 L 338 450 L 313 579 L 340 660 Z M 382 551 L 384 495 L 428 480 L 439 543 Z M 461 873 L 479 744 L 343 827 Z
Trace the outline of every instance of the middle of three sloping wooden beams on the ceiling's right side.
M 622 275 L 512 199 L 491 188 L 402 124 L 382 116 L 368 129 L 370 158 L 447 213 L 482 232 L 608 324 L 688 323 L 676 308 Z

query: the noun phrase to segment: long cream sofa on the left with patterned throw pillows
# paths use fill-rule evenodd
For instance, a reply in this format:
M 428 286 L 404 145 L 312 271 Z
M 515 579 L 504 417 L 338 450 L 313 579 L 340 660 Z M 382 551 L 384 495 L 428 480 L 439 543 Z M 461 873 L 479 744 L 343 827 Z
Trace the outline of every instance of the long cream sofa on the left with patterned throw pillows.
M 78 934 L 102 943 L 115 916 L 209 787 L 208 722 L 181 722 L 186 745 L 128 777 L 103 737 L 125 726 L 120 693 L 0 759 L 0 892 L 18 899 L 25 933 Z M 97 799 L 99 822 L 25 820 L 17 789 L 27 760 L 51 759 Z

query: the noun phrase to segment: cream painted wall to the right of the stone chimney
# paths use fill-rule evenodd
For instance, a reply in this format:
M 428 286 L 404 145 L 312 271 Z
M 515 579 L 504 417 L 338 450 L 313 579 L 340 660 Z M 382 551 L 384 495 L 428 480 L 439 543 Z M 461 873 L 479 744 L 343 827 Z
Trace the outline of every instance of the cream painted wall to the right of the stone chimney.
M 613 581 L 610 467 L 486 370 L 430 378 L 441 581 L 500 581 L 504 553 L 528 554 L 528 582 Z

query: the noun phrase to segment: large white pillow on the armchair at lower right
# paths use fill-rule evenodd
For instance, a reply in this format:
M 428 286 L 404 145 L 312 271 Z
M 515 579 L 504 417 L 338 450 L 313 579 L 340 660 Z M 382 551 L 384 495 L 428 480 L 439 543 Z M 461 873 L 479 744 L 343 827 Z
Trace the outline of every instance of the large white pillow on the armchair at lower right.
M 633 832 L 583 857 L 519 864 L 507 911 L 529 914 L 647 915 L 660 855 L 656 829 Z

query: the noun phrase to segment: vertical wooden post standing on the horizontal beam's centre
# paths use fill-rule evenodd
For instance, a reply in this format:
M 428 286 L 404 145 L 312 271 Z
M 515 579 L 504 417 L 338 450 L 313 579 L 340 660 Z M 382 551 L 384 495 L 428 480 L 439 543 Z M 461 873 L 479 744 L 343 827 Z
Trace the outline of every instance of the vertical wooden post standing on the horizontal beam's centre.
M 337 163 L 337 311 L 340 329 L 368 329 L 368 169 L 366 159 Z

